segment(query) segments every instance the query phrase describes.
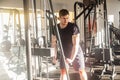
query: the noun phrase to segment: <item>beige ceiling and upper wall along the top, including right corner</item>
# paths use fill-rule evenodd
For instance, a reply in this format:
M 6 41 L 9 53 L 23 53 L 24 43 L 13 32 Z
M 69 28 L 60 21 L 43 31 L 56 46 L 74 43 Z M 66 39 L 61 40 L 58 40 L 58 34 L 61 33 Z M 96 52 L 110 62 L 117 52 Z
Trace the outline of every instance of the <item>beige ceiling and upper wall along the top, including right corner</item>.
M 23 9 L 23 1 L 24 0 L 0 0 L 0 8 L 7 7 L 7 8 L 21 8 Z M 33 0 L 29 0 L 30 7 L 32 6 Z M 43 5 L 43 1 L 49 1 L 49 0 L 36 0 L 37 1 L 37 9 L 41 8 L 41 5 Z M 42 1 L 42 2 L 41 2 Z M 69 11 L 73 11 L 74 9 L 74 3 L 76 1 L 82 1 L 82 0 L 51 0 L 53 4 L 54 11 L 58 11 L 61 8 L 67 8 Z M 120 0 L 106 0 L 107 1 L 107 10 L 108 15 L 114 15 L 114 23 L 115 26 L 118 26 L 120 24 L 119 20 L 119 12 L 120 12 Z M 48 3 L 46 3 L 46 6 Z M 43 9 L 43 8 L 42 8 Z

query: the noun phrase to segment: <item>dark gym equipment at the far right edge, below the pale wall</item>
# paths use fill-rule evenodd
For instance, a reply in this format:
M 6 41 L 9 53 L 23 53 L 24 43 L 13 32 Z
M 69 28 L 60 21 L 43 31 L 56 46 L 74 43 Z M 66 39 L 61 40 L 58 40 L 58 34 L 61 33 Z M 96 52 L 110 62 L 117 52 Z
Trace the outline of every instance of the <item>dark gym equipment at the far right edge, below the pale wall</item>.
M 115 65 L 120 65 L 120 58 L 118 57 L 120 55 L 120 29 L 114 27 L 113 25 L 110 25 L 110 31 L 111 47 L 113 49 L 113 56 L 115 57 L 113 63 Z

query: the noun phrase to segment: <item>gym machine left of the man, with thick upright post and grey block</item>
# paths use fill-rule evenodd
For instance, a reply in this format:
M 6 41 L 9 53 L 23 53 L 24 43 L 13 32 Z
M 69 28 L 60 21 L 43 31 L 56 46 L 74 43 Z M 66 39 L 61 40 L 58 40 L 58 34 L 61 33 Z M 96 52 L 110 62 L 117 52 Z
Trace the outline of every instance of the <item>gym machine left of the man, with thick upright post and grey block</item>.
M 48 1 L 48 0 L 41 0 L 41 3 L 43 6 L 43 9 L 41 9 L 41 11 L 43 12 L 43 14 L 41 15 L 40 18 L 42 18 L 43 20 L 43 24 L 41 27 L 41 35 L 40 36 L 45 36 L 45 46 L 38 45 L 37 46 L 31 46 L 31 38 L 30 38 L 30 30 L 29 30 L 29 1 L 28 0 L 24 0 L 24 15 L 25 15 L 25 36 L 26 36 L 26 55 L 27 55 L 27 72 L 28 72 L 28 79 L 32 80 L 32 79 L 42 79 L 44 77 L 44 72 L 43 72 L 43 67 L 47 69 L 47 72 L 45 73 L 47 76 L 45 78 L 47 78 L 49 80 L 49 59 L 53 56 L 51 55 L 51 53 L 53 54 L 53 49 L 50 48 L 51 44 L 51 29 L 52 29 L 52 23 L 56 23 L 56 22 L 52 22 L 50 20 L 51 16 L 54 20 L 55 16 L 53 14 L 53 8 L 52 8 L 52 1 Z M 36 1 L 32 1 L 33 2 L 33 13 L 34 13 L 34 18 L 35 22 L 34 24 L 36 25 L 38 22 L 38 13 L 37 13 L 37 9 L 36 9 Z M 47 4 L 49 2 L 49 4 Z M 50 7 L 51 11 L 47 10 L 49 9 L 48 6 Z M 36 10 L 35 10 L 36 9 Z M 35 16 L 36 15 L 36 16 Z M 48 22 L 47 22 L 48 21 Z M 48 25 L 49 23 L 49 25 Z M 43 27 L 44 26 L 44 27 Z M 40 26 L 32 26 L 35 30 L 34 30 L 34 34 L 33 34 L 33 38 L 38 39 L 38 28 Z M 44 29 L 44 30 L 43 30 Z M 38 42 L 38 40 L 37 40 Z M 32 61 L 32 62 L 30 62 Z M 51 63 L 52 64 L 52 63 Z M 53 66 L 53 65 L 52 65 Z M 33 73 L 32 73 L 33 71 Z

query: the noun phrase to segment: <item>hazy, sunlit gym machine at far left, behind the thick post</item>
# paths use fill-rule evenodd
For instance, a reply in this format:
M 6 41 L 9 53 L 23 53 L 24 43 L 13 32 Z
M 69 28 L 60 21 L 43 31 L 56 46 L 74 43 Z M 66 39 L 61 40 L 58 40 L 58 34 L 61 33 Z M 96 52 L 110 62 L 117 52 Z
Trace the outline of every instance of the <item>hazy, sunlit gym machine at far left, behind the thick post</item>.
M 18 9 L 0 8 L 0 52 L 6 58 L 5 67 L 11 79 L 25 72 L 25 40 Z M 1 64 L 2 65 L 2 64 Z

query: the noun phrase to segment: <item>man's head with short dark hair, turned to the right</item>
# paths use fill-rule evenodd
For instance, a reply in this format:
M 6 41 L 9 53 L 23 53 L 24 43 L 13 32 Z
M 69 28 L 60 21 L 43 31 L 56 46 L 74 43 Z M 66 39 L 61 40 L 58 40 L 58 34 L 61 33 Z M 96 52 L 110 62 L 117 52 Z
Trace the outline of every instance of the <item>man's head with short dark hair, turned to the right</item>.
M 67 25 L 69 22 L 69 11 L 67 9 L 61 9 L 59 11 L 60 24 Z

